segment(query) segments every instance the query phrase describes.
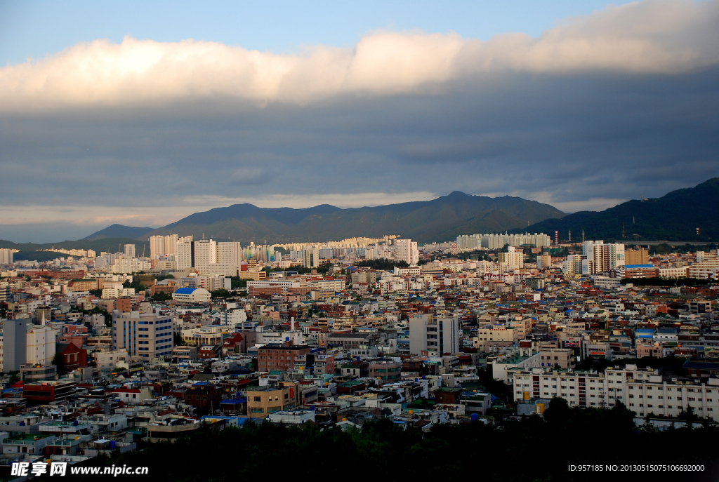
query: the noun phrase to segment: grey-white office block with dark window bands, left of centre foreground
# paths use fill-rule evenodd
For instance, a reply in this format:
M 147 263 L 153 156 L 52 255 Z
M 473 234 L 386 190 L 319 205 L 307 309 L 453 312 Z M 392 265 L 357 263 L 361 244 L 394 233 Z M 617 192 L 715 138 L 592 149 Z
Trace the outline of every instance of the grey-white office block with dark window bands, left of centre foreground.
M 173 352 L 173 317 L 112 311 L 112 345 L 150 361 Z

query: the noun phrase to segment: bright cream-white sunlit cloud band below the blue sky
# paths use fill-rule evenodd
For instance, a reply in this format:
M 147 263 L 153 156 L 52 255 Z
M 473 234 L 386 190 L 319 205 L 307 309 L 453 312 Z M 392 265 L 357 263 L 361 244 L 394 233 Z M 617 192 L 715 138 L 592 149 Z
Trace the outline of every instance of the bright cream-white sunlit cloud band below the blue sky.
M 0 111 L 162 106 L 177 101 L 304 105 L 340 95 L 436 94 L 505 71 L 682 73 L 719 62 L 719 2 L 609 6 L 539 38 L 372 32 L 354 48 L 275 54 L 216 42 L 96 40 L 0 68 Z

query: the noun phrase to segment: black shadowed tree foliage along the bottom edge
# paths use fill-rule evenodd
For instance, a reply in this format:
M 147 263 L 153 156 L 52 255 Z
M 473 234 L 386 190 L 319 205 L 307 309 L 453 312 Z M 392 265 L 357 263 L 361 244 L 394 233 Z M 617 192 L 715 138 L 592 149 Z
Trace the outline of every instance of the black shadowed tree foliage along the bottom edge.
M 566 402 L 557 399 L 547 409 L 546 421 L 533 416 L 496 427 L 480 422 L 438 425 L 429 433 L 402 430 L 386 419 L 367 423 L 361 431 L 347 432 L 248 423 L 222 432 L 203 430 L 174 444 L 152 444 L 101 463 L 147 465 L 153 481 L 284 477 L 432 481 L 459 480 L 464 476 L 484 481 L 580 481 L 592 474 L 569 472 L 569 464 L 642 463 L 703 464 L 703 473 L 672 476 L 680 476 L 681 480 L 716 480 L 717 437 L 719 430 L 715 427 L 638 430 L 633 413 L 623 406 L 569 409 Z M 614 473 L 594 475 L 635 481 L 649 477 L 647 473 L 627 477 Z

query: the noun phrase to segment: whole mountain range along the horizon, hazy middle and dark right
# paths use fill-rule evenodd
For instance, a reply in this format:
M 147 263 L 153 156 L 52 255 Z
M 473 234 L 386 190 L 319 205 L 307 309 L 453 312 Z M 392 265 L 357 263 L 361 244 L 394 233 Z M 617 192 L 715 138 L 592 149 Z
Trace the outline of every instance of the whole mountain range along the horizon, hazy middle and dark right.
M 249 244 L 329 241 L 396 234 L 420 243 L 451 241 L 459 234 L 543 232 L 562 240 L 716 241 L 719 239 L 719 177 L 661 198 L 630 200 L 603 211 L 565 214 L 551 205 L 505 196 L 488 198 L 455 191 L 429 201 L 365 208 L 258 208 L 237 204 L 194 213 L 162 228 L 114 224 L 78 241 L 16 244 L 0 240 L 0 248 L 19 249 L 15 259 L 51 259 L 62 254 L 38 252 L 51 246 L 114 252 L 135 244 L 135 252 L 149 254 L 150 236 L 177 233 L 232 239 Z M 699 228 L 699 233 L 697 233 Z M 121 249 L 122 251 L 122 249 Z M 40 256 L 40 257 L 38 257 Z

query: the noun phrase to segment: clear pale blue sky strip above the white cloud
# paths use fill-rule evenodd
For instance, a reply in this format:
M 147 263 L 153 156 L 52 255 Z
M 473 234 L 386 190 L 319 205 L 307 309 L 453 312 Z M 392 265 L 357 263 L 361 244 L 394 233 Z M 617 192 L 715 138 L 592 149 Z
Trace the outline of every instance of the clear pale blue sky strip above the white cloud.
M 567 17 L 626 1 L 0 1 L 0 65 L 41 59 L 78 42 L 127 34 L 158 42 L 211 40 L 287 52 L 354 45 L 377 29 L 454 31 L 489 40 L 537 37 Z

